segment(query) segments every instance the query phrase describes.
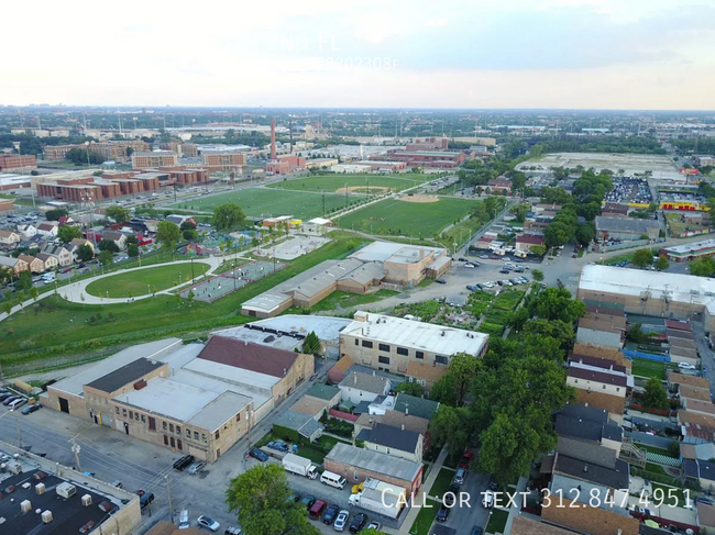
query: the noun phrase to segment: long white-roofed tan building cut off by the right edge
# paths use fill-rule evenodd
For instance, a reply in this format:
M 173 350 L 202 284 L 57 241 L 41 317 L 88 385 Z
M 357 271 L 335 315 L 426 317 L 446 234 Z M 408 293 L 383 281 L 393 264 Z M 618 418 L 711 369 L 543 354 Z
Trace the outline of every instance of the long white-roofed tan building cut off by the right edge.
M 705 277 L 591 265 L 581 271 L 576 296 L 630 314 L 675 320 L 703 314 L 707 330 L 715 330 L 715 281 Z

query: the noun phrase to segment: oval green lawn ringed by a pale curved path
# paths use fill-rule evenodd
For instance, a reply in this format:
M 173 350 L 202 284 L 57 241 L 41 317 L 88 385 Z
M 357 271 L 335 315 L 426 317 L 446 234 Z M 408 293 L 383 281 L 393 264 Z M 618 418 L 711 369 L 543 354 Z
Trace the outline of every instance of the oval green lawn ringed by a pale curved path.
M 199 277 L 209 270 L 209 265 L 202 261 L 194 263 L 194 275 Z M 180 278 L 179 278 L 180 277 Z M 129 298 L 157 292 L 191 280 L 190 264 L 173 264 L 157 266 L 140 271 L 117 274 L 96 280 L 87 287 L 87 293 L 98 297 Z

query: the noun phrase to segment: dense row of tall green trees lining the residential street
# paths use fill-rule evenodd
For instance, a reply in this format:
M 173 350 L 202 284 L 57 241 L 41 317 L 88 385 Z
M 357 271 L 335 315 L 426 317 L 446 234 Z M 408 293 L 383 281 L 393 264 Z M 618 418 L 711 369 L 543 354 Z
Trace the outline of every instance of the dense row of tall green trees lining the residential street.
M 483 359 L 455 355 L 432 387 L 442 404 L 430 424 L 437 445 L 458 456 L 481 445 L 479 469 L 504 484 L 527 475 L 534 459 L 556 445 L 551 414 L 574 399 L 564 358 L 583 303 L 565 289 L 527 298 L 510 320 L 515 339 L 492 338 Z

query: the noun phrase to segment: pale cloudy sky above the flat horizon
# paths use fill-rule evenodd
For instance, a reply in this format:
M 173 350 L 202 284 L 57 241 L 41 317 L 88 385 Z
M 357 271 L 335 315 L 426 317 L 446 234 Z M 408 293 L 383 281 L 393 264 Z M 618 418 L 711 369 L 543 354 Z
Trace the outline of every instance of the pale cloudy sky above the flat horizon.
M 0 104 L 715 110 L 715 0 L 9 2 Z

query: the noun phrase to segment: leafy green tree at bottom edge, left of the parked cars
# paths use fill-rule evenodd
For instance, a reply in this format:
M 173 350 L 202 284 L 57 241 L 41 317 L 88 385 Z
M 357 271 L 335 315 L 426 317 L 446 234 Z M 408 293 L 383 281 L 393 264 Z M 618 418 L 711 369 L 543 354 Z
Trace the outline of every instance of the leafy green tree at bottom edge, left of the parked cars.
M 290 489 L 283 467 L 258 465 L 233 478 L 226 501 L 239 524 L 251 535 L 319 535 L 308 524 L 305 508 L 288 498 Z

